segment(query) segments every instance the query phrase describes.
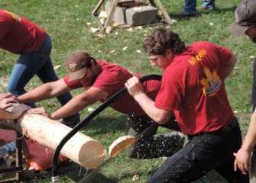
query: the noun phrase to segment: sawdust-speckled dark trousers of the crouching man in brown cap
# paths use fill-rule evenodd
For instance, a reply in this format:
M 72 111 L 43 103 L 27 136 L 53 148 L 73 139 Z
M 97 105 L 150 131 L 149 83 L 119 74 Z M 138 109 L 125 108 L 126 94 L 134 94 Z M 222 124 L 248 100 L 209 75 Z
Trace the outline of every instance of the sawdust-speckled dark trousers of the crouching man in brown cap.
M 174 120 L 170 121 L 170 123 L 171 122 L 176 123 Z M 136 136 L 152 123 L 151 118 L 147 116 L 128 116 L 125 131 L 128 135 Z M 152 127 L 147 133 L 144 133 L 141 138 L 126 149 L 128 157 L 135 159 L 152 159 L 162 156 L 171 156 L 183 146 L 183 136 L 180 136 L 177 132 L 164 135 L 155 135 L 156 133 L 157 126 Z

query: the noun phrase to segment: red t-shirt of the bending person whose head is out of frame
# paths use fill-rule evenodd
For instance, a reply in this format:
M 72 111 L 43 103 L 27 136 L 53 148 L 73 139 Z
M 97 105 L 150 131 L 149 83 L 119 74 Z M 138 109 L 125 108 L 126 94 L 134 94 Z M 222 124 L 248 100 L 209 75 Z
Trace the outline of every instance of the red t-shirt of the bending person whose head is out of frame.
M 26 18 L 0 9 L 0 48 L 22 54 L 37 50 L 47 37 L 45 30 Z

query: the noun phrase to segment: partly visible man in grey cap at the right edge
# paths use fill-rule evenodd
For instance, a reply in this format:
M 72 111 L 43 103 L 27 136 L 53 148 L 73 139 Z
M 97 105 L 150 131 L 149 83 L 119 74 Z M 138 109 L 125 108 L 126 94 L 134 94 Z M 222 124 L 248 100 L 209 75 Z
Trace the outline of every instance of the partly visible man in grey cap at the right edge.
M 256 1 L 244 0 L 235 9 L 235 21 L 229 27 L 229 31 L 232 36 L 240 36 L 246 34 L 250 40 L 256 43 Z M 235 159 L 235 171 L 240 169 L 241 172 L 247 174 L 250 172 L 251 181 L 256 173 L 256 60 L 254 60 L 253 67 L 253 85 L 251 92 L 251 104 L 253 105 L 253 114 L 251 116 L 251 122 L 248 129 L 248 133 L 245 136 L 245 140 L 241 146 L 241 149 L 237 153 L 234 153 Z M 251 154 L 251 152 L 253 152 Z M 252 156 L 251 156 L 252 155 Z M 251 167 L 249 168 L 249 162 L 251 159 Z M 253 181 L 255 182 L 255 181 Z

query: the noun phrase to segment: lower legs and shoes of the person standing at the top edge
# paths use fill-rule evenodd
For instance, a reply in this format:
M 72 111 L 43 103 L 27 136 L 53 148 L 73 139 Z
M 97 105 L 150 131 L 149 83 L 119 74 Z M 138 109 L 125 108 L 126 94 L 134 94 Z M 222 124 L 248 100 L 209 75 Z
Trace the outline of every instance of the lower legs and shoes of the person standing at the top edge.
M 215 0 L 203 0 L 203 4 L 199 6 L 199 10 L 214 10 Z M 196 16 L 196 0 L 185 0 L 183 6 L 183 11 L 173 14 L 173 17 L 186 17 L 186 16 Z

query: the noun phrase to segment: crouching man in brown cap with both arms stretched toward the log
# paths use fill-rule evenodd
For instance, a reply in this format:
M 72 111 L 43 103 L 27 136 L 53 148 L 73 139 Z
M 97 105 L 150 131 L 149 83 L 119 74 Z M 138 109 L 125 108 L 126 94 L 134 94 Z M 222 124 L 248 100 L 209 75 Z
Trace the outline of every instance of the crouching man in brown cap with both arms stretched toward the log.
M 19 96 L 17 100 L 21 103 L 41 101 L 81 87 L 86 88 L 86 91 L 76 95 L 52 114 L 49 114 L 44 108 L 31 109 L 28 111 L 29 114 L 44 114 L 54 120 L 67 117 L 97 101 L 105 101 L 115 92 L 124 88 L 125 82 L 133 75 L 141 77 L 141 74 L 132 73 L 117 64 L 96 61 L 88 53 L 81 50 L 70 54 L 66 61 L 66 67 L 69 74 L 63 79 L 34 88 Z M 154 100 L 160 89 L 160 81 L 151 80 L 143 82 L 142 85 L 147 95 Z M 128 93 L 115 100 L 110 104 L 110 107 L 123 114 L 128 114 L 125 129 L 128 135 L 136 136 L 154 123 Z M 171 129 L 176 127 L 177 130 L 180 130 L 174 117 L 169 120 L 166 127 Z M 181 133 L 155 135 L 156 133 L 157 126 L 153 126 L 144 136 L 128 147 L 128 156 L 136 159 L 170 156 L 183 146 L 184 139 Z

